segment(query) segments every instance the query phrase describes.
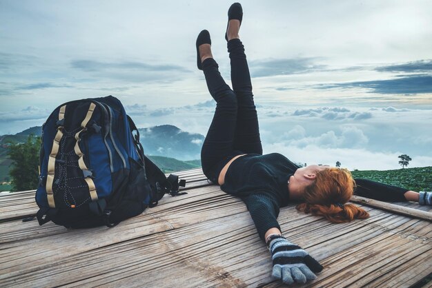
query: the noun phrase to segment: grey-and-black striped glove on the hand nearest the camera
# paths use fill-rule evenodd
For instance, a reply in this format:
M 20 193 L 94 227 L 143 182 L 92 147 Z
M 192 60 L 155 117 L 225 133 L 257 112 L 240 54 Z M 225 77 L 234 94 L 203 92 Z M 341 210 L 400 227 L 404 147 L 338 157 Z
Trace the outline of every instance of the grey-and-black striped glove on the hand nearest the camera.
M 317 278 L 314 272 L 322 271 L 322 266 L 302 247 L 297 246 L 283 236 L 272 237 L 268 249 L 273 259 L 273 273 L 286 284 L 306 283 Z

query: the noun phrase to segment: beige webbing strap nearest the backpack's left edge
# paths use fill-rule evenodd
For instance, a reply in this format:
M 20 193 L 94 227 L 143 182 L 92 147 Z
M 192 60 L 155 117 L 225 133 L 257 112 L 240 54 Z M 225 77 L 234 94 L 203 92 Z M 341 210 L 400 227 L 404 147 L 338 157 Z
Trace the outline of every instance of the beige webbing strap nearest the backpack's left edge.
M 64 119 L 66 112 L 66 105 L 60 107 L 59 121 Z M 54 193 L 52 192 L 52 184 L 54 183 L 55 174 L 55 158 L 60 148 L 60 140 L 63 137 L 63 126 L 57 127 L 57 134 L 55 134 L 54 141 L 52 142 L 52 149 L 50 157 L 48 158 L 48 174 L 46 176 L 46 196 L 48 198 L 48 205 L 55 208 Z

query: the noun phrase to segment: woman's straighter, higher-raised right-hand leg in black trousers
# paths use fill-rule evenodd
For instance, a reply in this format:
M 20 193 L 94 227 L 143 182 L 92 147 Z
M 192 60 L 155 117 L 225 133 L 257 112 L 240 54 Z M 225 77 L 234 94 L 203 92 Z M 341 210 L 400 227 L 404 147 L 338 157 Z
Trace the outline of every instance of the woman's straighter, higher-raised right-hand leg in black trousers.
M 249 74 L 244 45 L 238 39 L 240 22 L 230 20 L 228 23 L 228 52 L 231 63 L 231 82 L 237 95 L 237 125 L 235 128 L 234 150 L 245 153 L 262 154 L 259 137 L 258 116 L 253 101 L 251 74 Z

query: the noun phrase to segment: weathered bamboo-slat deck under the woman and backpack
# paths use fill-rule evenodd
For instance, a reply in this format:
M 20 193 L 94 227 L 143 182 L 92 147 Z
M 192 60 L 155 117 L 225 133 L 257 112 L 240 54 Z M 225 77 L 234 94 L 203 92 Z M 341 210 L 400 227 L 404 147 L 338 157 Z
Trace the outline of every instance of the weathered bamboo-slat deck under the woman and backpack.
M 178 174 L 188 194 L 114 228 L 39 227 L 21 221 L 37 212 L 35 192 L 1 196 L 0 287 L 283 286 L 244 203 L 201 169 Z M 431 222 L 364 208 L 371 218 L 347 224 L 281 209 L 284 235 L 324 265 L 304 287 L 410 287 L 432 273 Z

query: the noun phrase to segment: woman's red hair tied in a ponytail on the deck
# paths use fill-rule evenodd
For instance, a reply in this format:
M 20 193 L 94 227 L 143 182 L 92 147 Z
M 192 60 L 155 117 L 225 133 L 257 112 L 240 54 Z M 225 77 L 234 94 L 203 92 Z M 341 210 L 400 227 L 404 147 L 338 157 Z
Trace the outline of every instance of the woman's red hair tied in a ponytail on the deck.
M 353 204 L 345 204 L 353 196 L 355 181 L 348 169 L 328 168 L 316 172 L 315 181 L 305 187 L 305 203 L 296 209 L 324 216 L 333 223 L 365 219 L 369 213 Z

